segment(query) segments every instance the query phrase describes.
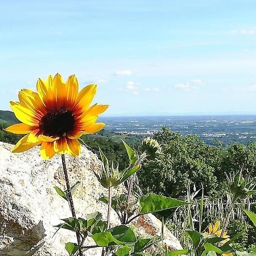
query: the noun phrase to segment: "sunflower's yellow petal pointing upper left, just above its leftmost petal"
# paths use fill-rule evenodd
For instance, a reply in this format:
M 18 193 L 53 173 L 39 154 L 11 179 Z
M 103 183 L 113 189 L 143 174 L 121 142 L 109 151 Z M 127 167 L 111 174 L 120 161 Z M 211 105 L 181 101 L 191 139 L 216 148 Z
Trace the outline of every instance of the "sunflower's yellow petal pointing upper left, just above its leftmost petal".
M 10 102 L 10 106 L 11 109 L 13 109 L 15 117 L 18 118 L 20 122 L 29 126 L 36 126 L 38 124 L 38 118 L 30 109 L 24 108 L 18 102 L 14 101 Z

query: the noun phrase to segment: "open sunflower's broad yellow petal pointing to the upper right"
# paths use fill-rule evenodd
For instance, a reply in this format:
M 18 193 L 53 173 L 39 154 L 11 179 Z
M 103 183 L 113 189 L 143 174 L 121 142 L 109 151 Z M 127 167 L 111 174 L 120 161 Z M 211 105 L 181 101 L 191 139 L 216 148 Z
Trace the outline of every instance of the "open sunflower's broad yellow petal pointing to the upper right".
M 90 84 L 80 91 L 77 97 L 77 107 L 84 112 L 93 100 L 93 97 L 97 91 L 96 84 Z

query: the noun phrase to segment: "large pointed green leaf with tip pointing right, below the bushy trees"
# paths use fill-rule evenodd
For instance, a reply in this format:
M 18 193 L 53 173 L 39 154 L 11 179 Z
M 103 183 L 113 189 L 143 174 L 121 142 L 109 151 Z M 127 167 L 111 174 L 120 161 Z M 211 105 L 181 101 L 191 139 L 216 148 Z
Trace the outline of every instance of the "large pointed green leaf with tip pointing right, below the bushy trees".
M 159 196 L 154 193 L 150 193 L 146 196 L 142 196 L 139 199 L 139 214 L 142 215 L 152 212 L 159 212 L 159 210 L 166 210 L 183 205 L 188 205 L 188 203 L 177 199 L 172 199 L 171 197 Z

